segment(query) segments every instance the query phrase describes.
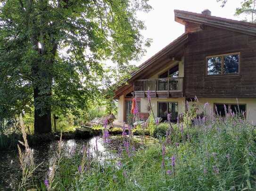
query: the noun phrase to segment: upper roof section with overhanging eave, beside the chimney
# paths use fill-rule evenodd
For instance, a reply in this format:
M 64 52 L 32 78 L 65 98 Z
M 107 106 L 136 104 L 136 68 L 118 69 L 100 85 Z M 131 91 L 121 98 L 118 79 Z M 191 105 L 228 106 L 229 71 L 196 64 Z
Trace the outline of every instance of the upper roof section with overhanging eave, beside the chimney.
M 185 24 L 186 22 L 199 23 L 256 36 L 256 23 L 236 21 L 232 19 L 212 15 L 202 15 L 181 10 L 174 10 L 174 15 L 175 21 L 181 24 Z

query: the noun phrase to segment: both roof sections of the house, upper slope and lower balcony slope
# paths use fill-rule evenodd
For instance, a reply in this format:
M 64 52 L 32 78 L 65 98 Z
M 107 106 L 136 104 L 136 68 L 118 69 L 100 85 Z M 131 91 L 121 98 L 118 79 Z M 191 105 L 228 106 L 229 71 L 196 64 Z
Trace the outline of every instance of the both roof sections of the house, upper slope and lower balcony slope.
M 193 13 L 189 11 L 174 10 L 175 21 L 181 24 L 198 23 L 202 25 L 209 25 L 216 28 L 222 28 L 230 31 L 236 31 L 240 33 L 245 33 L 249 35 L 256 36 L 256 24 L 248 23 L 243 21 L 236 21 L 232 19 L 212 16 L 212 15 L 202 15 L 198 13 Z M 190 32 L 183 33 L 180 37 L 175 39 L 169 45 L 165 46 L 158 53 L 153 55 L 147 61 L 143 62 L 139 69 L 131 73 L 131 78 L 126 80 L 126 84 L 118 87 L 115 91 L 115 99 L 125 93 L 132 91 L 132 82 L 141 77 L 150 77 L 149 71 L 154 71 L 154 69 L 162 67 L 167 61 L 171 60 L 171 56 L 175 56 L 176 53 L 181 52 L 182 48 L 186 45 L 189 40 Z M 127 84 L 128 83 L 128 84 Z

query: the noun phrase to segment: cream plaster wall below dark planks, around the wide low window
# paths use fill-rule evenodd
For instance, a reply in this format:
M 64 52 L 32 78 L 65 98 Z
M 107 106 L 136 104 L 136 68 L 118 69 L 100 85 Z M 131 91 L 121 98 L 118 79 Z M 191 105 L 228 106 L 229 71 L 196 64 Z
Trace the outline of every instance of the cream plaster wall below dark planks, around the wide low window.
M 199 102 L 199 112 L 201 113 L 204 109 L 204 104 L 209 103 L 209 106 L 206 107 L 207 115 L 210 115 L 214 112 L 215 103 L 226 103 L 226 104 L 246 104 L 246 119 L 248 122 L 256 125 L 256 99 L 255 98 L 198 98 Z

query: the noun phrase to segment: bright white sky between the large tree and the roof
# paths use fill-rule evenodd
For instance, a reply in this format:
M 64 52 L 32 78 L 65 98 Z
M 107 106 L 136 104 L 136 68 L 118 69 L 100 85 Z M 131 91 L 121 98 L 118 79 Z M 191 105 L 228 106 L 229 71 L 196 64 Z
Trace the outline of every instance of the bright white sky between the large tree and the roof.
M 240 7 L 242 0 L 228 0 L 224 8 L 216 0 L 149 0 L 152 10 L 149 13 L 138 13 L 138 18 L 145 22 L 145 38 L 152 38 L 153 42 L 147 47 L 147 53 L 140 61 L 132 62 L 139 66 L 155 53 L 178 38 L 185 30 L 184 25 L 174 21 L 174 9 L 201 13 L 209 9 L 213 16 L 235 20 L 243 20 L 244 16 L 235 16 L 236 8 Z

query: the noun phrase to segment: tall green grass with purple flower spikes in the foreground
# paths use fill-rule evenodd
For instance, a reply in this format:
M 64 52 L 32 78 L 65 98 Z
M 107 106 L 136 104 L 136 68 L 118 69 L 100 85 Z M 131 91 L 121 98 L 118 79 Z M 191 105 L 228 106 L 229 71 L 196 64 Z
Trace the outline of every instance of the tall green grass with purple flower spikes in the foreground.
M 137 150 L 132 131 L 123 133 L 115 159 L 102 162 L 90 150 L 63 156 L 50 190 L 256 190 L 256 131 L 242 115 L 228 110 L 168 125 L 158 143 Z

